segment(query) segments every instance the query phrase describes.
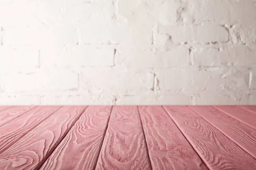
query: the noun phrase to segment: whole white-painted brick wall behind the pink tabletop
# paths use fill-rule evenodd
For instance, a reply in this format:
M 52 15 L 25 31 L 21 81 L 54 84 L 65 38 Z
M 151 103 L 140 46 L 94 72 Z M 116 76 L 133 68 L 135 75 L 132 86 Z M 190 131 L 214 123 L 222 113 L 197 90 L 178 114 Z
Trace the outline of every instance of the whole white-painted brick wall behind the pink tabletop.
M 0 105 L 255 105 L 255 0 L 0 0 Z

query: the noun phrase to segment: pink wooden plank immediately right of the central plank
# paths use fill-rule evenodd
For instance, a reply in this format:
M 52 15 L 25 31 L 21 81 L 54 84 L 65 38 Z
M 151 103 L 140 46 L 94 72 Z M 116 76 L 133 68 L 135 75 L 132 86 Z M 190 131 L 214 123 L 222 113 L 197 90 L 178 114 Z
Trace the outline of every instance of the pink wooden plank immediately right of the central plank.
M 139 106 L 153 170 L 208 169 L 161 106 Z

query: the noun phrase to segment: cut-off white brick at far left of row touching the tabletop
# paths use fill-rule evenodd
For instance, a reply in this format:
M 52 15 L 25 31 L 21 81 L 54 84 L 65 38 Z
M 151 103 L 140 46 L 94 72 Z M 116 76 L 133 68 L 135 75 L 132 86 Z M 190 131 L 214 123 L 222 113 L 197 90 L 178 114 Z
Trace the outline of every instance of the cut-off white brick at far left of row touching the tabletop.
M 41 105 L 40 96 L 0 96 L 0 105 Z

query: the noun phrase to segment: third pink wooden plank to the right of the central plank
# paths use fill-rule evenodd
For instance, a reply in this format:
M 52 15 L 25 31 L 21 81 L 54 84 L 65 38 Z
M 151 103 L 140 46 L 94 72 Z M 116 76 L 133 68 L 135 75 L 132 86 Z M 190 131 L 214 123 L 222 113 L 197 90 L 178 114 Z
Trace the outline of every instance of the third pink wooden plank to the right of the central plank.
M 211 106 L 189 107 L 256 159 L 256 130 Z

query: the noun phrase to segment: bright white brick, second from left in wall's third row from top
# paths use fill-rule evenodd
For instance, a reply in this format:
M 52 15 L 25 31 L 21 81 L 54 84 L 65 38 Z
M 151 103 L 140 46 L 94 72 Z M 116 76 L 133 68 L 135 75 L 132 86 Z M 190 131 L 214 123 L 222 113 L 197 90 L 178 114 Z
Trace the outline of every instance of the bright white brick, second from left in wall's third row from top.
M 113 66 L 114 48 L 108 45 L 47 46 L 40 49 L 42 65 Z

